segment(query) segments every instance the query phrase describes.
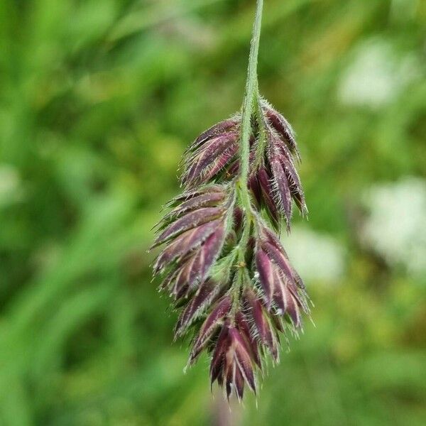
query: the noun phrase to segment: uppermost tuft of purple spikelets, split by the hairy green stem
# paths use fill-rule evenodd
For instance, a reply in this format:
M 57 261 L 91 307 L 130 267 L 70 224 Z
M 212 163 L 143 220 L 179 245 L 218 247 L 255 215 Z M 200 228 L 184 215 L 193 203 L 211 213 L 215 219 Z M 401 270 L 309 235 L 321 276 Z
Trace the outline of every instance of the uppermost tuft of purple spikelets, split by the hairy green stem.
M 305 194 L 295 167 L 300 153 L 288 121 L 261 100 L 262 119 L 253 116 L 249 186 L 275 229 L 281 219 L 290 231 L 293 202 L 300 214 L 307 214 Z M 229 182 L 239 173 L 239 129 L 241 116 L 222 121 L 205 131 L 187 149 L 182 162 L 181 182 L 187 190 L 207 182 Z M 261 131 L 259 131 L 261 129 Z M 263 146 L 263 149 L 260 147 Z

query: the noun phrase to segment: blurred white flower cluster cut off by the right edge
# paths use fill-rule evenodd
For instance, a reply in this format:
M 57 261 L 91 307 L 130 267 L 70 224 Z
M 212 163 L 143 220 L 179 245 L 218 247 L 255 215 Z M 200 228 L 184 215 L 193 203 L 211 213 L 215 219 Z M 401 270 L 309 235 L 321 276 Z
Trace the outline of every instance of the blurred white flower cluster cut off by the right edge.
M 403 264 L 409 273 L 426 272 L 426 180 L 405 178 L 377 185 L 364 200 L 371 209 L 361 231 L 390 265 Z

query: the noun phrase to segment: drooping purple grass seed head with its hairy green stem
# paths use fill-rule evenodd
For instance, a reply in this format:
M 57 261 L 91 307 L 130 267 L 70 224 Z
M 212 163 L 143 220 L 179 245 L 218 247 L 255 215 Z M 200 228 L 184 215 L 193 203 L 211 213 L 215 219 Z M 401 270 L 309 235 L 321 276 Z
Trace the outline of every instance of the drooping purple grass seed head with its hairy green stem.
M 249 66 L 249 82 L 253 75 Z M 290 230 L 293 202 L 307 213 L 295 135 L 257 85 L 248 87 L 249 110 L 187 148 L 184 190 L 168 203 L 153 244 L 163 247 L 153 266 L 163 276 L 160 288 L 180 310 L 175 337 L 193 336 L 188 364 L 207 351 L 211 383 L 239 400 L 245 385 L 256 393 L 268 354 L 278 361 L 280 334 L 297 334 L 301 313 L 310 314 L 305 285 L 277 234 L 283 222 Z

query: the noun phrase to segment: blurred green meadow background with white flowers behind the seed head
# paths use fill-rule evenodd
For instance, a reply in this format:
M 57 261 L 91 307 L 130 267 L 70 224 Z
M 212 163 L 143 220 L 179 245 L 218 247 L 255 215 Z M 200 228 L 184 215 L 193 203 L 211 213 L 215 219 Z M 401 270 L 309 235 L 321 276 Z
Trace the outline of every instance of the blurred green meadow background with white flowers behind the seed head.
M 426 4 L 266 0 L 315 302 L 229 412 L 146 250 L 180 155 L 241 105 L 254 0 L 0 1 L 0 425 L 425 425 Z M 216 391 L 214 391 L 216 393 Z

